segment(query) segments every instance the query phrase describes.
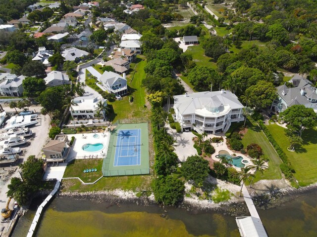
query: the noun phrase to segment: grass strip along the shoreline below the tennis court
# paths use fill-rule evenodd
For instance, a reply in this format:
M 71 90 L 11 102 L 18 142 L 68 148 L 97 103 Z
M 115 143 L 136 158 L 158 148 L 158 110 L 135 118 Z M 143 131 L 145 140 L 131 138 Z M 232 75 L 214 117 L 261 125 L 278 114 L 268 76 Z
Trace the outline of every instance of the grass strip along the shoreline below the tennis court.
M 128 175 L 103 177 L 96 184 L 83 185 L 79 180 L 70 179 L 62 181 L 62 192 L 91 192 L 101 190 L 151 190 L 153 176 L 151 175 Z

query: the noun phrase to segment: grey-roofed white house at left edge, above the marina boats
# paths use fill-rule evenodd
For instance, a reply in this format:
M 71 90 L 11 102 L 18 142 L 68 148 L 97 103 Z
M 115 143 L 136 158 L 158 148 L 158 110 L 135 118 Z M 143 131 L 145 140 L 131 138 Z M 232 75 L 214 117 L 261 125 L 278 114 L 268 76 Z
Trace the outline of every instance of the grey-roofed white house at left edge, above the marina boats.
M 1 74 L 3 76 L 3 74 Z M 3 96 L 22 96 L 23 86 L 22 81 L 24 76 L 16 76 L 15 74 L 5 74 L 4 77 L 0 77 L 0 93 Z

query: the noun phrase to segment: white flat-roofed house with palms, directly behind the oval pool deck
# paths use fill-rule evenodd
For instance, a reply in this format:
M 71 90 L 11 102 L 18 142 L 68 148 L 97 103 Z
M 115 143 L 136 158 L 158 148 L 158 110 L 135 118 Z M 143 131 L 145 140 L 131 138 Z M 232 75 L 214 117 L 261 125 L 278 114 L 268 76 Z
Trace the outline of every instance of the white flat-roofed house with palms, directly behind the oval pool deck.
M 69 108 L 70 114 L 75 119 L 89 119 L 97 118 L 96 114 L 99 111 L 98 103 L 102 101 L 103 105 L 107 105 L 107 102 L 104 98 L 99 99 L 94 96 L 79 96 L 72 100 L 73 104 Z M 104 116 L 106 112 L 103 111 Z

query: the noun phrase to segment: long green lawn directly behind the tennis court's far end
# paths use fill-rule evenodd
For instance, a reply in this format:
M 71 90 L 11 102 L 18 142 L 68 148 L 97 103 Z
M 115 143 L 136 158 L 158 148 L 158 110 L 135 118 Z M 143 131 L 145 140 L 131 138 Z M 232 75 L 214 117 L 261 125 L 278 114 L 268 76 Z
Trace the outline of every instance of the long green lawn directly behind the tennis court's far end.
M 113 107 L 112 121 L 117 121 L 123 118 L 146 118 L 149 116 L 149 110 L 145 105 L 145 88 L 142 87 L 142 79 L 146 77 L 144 67 L 147 62 L 140 57 L 139 62 L 135 68 L 127 76 L 129 95 L 122 97 L 120 101 L 109 102 L 108 105 Z M 132 79 L 133 78 L 133 79 Z M 132 79 L 132 81 L 131 81 Z M 133 97 L 133 102 L 129 102 L 129 97 Z

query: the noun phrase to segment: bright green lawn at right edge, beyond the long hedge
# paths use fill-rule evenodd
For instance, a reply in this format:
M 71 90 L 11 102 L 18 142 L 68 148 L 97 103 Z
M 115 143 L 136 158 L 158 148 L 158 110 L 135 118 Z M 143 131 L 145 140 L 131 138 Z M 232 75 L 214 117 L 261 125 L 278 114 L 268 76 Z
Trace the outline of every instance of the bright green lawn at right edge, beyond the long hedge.
M 299 184 L 307 186 L 317 182 L 317 128 L 304 130 L 302 135 L 304 144 L 295 147 L 295 152 L 287 151 L 290 143 L 283 127 L 271 124 L 267 128 L 291 162 L 296 171 L 294 176 Z

